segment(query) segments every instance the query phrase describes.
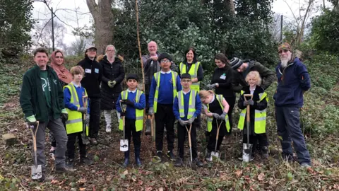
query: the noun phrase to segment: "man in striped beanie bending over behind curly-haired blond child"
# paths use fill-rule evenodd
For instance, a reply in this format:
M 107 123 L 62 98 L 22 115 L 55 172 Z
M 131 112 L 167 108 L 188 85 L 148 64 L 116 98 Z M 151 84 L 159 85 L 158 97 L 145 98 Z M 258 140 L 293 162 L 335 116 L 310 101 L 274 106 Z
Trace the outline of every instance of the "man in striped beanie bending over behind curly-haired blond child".
M 245 78 L 250 71 L 259 72 L 260 77 L 263 80 L 261 87 L 264 90 L 266 90 L 275 79 L 273 71 L 270 71 L 270 69 L 266 68 L 259 62 L 256 62 L 255 59 L 248 59 L 243 62 L 241 59 L 234 57 L 231 59 L 231 66 L 232 69 L 235 70 L 233 73 L 234 75 L 232 75 L 234 85 L 232 89 L 237 93 L 242 91 L 244 86 L 247 86 Z

